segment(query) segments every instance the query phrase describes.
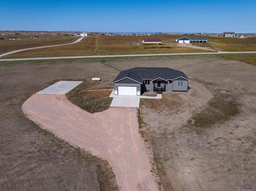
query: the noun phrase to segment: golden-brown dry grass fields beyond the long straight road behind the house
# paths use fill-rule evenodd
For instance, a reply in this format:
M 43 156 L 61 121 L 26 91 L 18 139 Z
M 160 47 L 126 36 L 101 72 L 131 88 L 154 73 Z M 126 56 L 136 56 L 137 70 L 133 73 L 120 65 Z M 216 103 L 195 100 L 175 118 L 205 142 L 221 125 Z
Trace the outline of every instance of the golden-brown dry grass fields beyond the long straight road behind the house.
M 24 49 L 28 47 L 38 47 L 44 45 L 57 45 L 75 41 L 78 37 L 64 35 L 44 34 L 38 39 L 30 39 L 26 35 L 4 36 L 17 37 L 20 40 L 1 40 L 0 53 L 12 50 Z M 188 35 L 189 36 L 189 35 Z M 156 53 L 196 53 L 210 52 L 210 49 L 220 51 L 256 51 L 256 37 L 239 39 L 236 37 L 210 37 L 207 36 L 208 43 L 193 43 L 193 45 L 209 47 L 209 50 L 195 49 L 192 47 L 181 47 L 175 42 L 182 35 L 151 34 L 151 35 L 95 35 L 86 37 L 80 43 L 72 45 L 48 47 L 29 51 L 23 51 L 7 55 L 2 58 L 24 58 L 24 57 L 52 57 L 52 56 L 78 56 L 78 55 L 130 55 L 130 54 L 156 54 Z M 160 38 L 161 45 L 142 45 L 143 38 Z

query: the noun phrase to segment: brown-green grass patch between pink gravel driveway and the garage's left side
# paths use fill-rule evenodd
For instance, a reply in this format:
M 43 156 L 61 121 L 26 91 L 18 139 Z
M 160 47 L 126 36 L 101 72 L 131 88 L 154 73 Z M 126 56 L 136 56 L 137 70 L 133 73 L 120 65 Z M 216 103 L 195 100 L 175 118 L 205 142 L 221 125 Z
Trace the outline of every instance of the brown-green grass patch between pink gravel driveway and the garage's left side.
M 112 90 L 88 91 L 92 90 L 91 83 L 91 81 L 83 80 L 80 85 L 66 95 L 68 100 L 89 113 L 107 110 L 113 99 L 109 97 Z

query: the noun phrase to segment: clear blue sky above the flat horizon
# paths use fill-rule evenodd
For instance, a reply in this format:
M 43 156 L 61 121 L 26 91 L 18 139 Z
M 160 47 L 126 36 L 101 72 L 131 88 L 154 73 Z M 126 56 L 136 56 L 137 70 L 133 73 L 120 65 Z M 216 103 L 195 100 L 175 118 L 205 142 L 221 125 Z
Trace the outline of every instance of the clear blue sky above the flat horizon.
M 256 33 L 256 1 L 12 0 L 0 30 Z

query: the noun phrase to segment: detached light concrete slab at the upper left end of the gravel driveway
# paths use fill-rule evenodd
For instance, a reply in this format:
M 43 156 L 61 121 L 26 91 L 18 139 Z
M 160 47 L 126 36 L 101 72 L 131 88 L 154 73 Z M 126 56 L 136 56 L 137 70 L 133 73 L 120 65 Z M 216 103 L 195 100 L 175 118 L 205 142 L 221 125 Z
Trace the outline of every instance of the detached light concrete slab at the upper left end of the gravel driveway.
M 37 94 L 60 94 L 65 95 L 70 90 L 78 86 L 82 81 L 58 81 L 57 83 L 43 89 Z

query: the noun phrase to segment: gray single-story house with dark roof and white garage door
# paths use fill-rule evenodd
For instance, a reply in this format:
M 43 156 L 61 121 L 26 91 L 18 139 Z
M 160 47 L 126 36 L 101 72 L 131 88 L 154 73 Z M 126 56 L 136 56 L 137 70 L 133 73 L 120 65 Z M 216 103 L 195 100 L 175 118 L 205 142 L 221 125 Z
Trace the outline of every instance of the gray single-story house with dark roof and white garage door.
M 170 68 L 137 67 L 121 71 L 114 84 L 114 95 L 142 95 L 146 91 L 188 91 L 190 79 Z

